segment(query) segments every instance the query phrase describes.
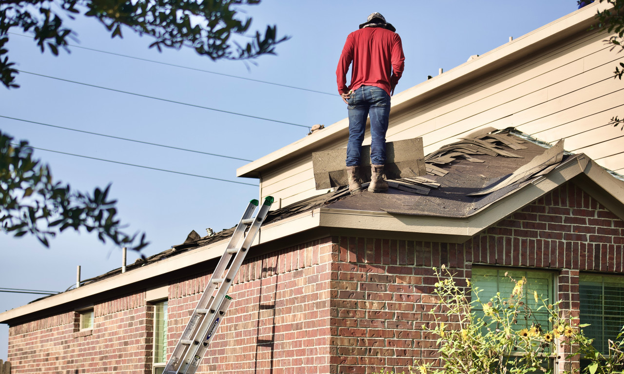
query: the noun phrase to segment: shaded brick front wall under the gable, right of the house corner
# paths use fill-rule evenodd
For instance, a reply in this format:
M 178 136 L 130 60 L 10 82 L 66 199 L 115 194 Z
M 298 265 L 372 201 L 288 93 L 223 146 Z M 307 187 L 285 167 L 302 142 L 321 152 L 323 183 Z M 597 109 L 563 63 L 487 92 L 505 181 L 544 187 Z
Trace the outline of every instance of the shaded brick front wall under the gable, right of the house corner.
M 331 267 L 331 371 L 407 370 L 437 362 L 431 322 L 444 263 L 457 278 L 472 264 L 558 270 L 562 307 L 578 315 L 578 274 L 624 271 L 624 222 L 574 184 L 527 205 L 463 244 L 336 237 Z

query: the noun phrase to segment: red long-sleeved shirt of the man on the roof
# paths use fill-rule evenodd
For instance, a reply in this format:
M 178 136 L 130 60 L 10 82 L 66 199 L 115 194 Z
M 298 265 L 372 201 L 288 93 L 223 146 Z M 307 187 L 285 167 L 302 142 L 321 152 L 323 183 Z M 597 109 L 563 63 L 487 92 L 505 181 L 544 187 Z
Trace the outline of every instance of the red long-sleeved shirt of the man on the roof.
M 336 69 L 338 92 L 346 94 L 360 86 L 376 86 L 389 95 L 403 74 L 404 60 L 401 37 L 396 32 L 383 27 L 364 27 L 351 32 Z M 352 61 L 351 84 L 347 87 L 346 73 Z

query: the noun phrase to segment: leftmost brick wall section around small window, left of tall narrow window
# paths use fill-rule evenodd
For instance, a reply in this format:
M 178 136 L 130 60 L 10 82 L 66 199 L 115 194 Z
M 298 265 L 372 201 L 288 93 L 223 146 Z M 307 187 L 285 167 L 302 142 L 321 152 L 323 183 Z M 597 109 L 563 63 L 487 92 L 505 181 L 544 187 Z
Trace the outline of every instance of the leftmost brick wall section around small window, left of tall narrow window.
M 148 373 L 151 318 L 136 293 L 96 304 L 92 330 L 79 331 L 73 310 L 11 326 L 11 373 Z

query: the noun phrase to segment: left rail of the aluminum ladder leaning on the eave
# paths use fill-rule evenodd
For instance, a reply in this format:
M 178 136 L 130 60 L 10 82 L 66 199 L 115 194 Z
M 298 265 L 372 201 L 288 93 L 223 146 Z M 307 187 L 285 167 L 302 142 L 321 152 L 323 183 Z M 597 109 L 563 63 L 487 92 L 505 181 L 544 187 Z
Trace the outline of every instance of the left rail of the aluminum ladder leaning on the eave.
M 259 205 L 258 200 L 255 200 L 255 199 L 251 200 L 249 204 L 247 205 L 245 212 L 243 212 L 243 216 L 241 217 L 240 221 L 242 222 L 243 220 L 250 219 L 251 215 L 253 215 L 253 212 L 256 210 L 256 207 L 258 207 L 258 205 Z M 185 353 L 189 347 L 188 345 L 183 344 L 182 341 L 194 340 L 195 337 L 197 336 L 197 333 L 200 330 L 200 326 L 202 325 L 203 320 L 205 319 L 206 314 L 198 313 L 197 311 L 205 309 L 208 303 L 210 303 L 211 301 L 212 294 L 214 293 L 214 290 L 217 287 L 217 285 L 212 283 L 212 278 L 215 277 L 215 274 L 218 274 L 217 277 L 222 277 L 222 273 L 225 271 L 225 268 L 227 267 L 228 263 L 230 262 L 230 259 L 233 256 L 233 253 L 230 253 L 228 249 L 232 249 L 236 247 L 245 235 L 246 225 L 241 224 L 241 222 L 239 222 L 239 224 L 236 225 L 236 229 L 234 230 L 234 233 L 232 234 L 232 238 L 230 238 L 230 242 L 228 243 L 227 248 L 225 249 L 222 257 L 220 258 L 217 264 L 217 267 L 215 268 L 215 271 L 212 274 L 211 282 L 208 282 L 204 292 L 202 293 L 202 297 L 200 297 L 200 300 L 197 303 L 197 307 L 195 307 L 195 310 L 193 310 L 193 313 L 190 315 L 189 321 L 187 323 L 187 327 L 182 333 L 182 337 L 180 337 L 180 340 L 178 340 L 176 347 L 173 349 L 172 357 L 167 363 L 167 367 L 170 367 L 170 366 L 172 368 L 175 367 L 174 369 L 175 373 L 177 373 L 179 369 L 179 365 L 177 365 L 177 362 L 179 360 L 182 360 L 182 358 L 185 356 Z M 172 371 L 171 368 L 169 369 L 169 371 Z

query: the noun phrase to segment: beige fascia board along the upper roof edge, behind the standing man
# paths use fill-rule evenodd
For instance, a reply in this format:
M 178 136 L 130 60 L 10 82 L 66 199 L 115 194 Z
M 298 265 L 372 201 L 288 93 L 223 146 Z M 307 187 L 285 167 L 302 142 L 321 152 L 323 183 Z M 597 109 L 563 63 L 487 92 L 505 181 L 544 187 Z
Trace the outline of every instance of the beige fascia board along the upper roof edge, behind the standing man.
M 476 59 L 444 72 L 444 74 L 402 91 L 392 97 L 391 116 L 437 92 L 454 89 L 464 84 L 464 82 L 494 71 L 510 61 L 516 61 L 538 49 L 544 48 L 548 44 L 562 40 L 568 35 L 583 31 L 594 22 L 594 16 L 597 11 L 609 9 L 610 7 L 612 5 L 607 2 L 594 2 L 539 29 L 531 31 L 514 41 L 507 42 L 492 51 L 486 52 Z M 336 140 L 346 140 L 348 132 L 349 121 L 348 119 L 343 119 L 258 160 L 241 166 L 236 169 L 236 177 L 258 178 L 262 170 L 269 169 L 273 165 L 286 162 L 288 159 L 301 154 L 310 154 L 313 150 L 321 149 L 323 145 L 336 142 Z

